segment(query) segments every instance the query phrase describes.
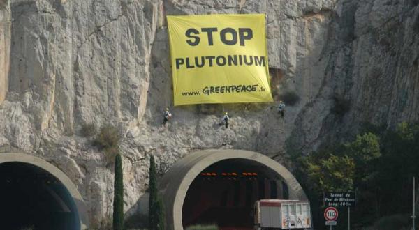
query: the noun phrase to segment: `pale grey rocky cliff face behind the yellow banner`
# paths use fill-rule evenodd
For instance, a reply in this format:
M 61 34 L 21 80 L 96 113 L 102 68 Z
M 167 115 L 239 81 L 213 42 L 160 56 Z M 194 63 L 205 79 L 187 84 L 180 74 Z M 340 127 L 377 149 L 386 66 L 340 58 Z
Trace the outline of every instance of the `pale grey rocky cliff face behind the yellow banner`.
M 172 108 L 166 15 L 265 13 L 274 104 Z M 10 70 L 9 70 L 10 67 Z M 6 96 L 6 98 L 4 98 Z M 297 97 L 296 97 L 297 96 Z M 163 173 L 201 148 L 286 162 L 362 122 L 419 118 L 418 0 L 0 0 L 0 147 L 43 158 L 78 185 L 94 225 L 112 210 L 112 167 L 85 123 L 123 137 L 125 210 L 138 210 L 149 155 Z M 232 115 L 224 130 L 222 112 Z M 141 205 L 141 204 L 140 204 Z

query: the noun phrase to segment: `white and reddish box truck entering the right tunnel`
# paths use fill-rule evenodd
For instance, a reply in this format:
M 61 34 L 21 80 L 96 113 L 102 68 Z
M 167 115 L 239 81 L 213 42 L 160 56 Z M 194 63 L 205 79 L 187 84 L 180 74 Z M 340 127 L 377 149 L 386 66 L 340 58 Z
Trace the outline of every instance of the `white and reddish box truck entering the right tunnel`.
M 311 229 L 309 201 L 261 199 L 253 212 L 256 230 Z

